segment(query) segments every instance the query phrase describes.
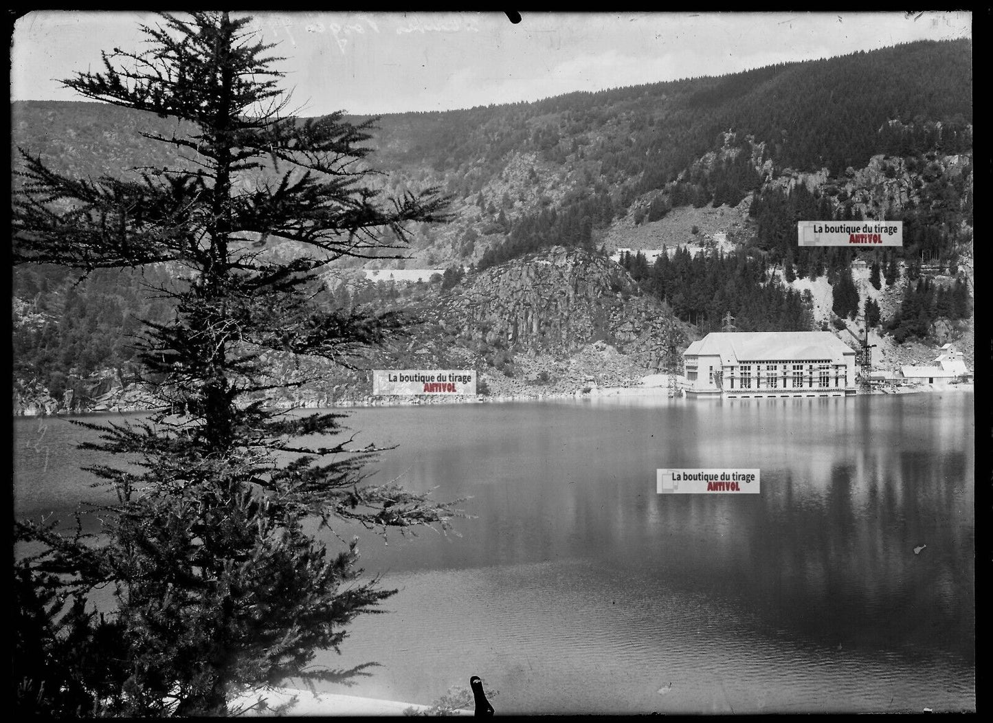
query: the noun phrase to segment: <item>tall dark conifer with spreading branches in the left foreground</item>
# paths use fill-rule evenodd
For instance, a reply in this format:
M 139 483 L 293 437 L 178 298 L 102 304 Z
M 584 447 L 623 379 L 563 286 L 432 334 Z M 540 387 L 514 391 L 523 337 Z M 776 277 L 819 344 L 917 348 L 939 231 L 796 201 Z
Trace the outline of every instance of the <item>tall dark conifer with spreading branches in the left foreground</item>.
M 103 509 L 99 537 L 16 526 L 21 540 L 45 545 L 16 567 L 16 589 L 37 591 L 19 595 L 19 620 L 44 631 L 16 651 L 37 662 L 15 680 L 21 702 L 45 699 L 36 708 L 221 714 L 250 687 L 360 672 L 365 665 L 309 663 L 315 651 L 339 650 L 350 621 L 395 591 L 363 581 L 355 539 L 329 549 L 314 523 L 335 535 L 349 524 L 384 534 L 447 528 L 459 513 L 367 482 L 379 450 L 336 437 L 344 415 L 265 403 L 273 389 L 308 380 L 275 378 L 268 361 L 348 363 L 402 332 L 393 316 L 322 307 L 316 273 L 342 256 L 395 254 L 406 224 L 442 219 L 444 201 L 434 190 L 387 199 L 369 188 L 369 123 L 286 114 L 280 59 L 249 23 L 163 15 L 143 28 L 149 50 L 115 50 L 102 71 L 64 81 L 86 98 L 175 118 L 174 135 L 146 135 L 175 148 L 176 167 L 77 180 L 22 151 L 16 263 L 185 270 L 159 290 L 175 302 L 174 321 L 148 325 L 142 342 L 158 407 L 136 423 L 83 425 L 101 434 L 84 448 L 137 465 L 90 468 L 118 499 Z M 245 240 L 266 237 L 307 253 L 287 259 Z M 107 586 L 115 607 L 106 618 L 80 607 Z M 71 670 L 67 641 L 78 643 Z

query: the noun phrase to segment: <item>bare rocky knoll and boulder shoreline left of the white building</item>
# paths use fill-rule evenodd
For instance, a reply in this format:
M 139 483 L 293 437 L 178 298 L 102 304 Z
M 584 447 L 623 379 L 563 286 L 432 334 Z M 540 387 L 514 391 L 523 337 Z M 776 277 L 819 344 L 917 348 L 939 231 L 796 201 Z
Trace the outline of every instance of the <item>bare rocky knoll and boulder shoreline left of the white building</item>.
M 316 377 L 275 392 L 280 405 L 362 402 L 373 368 L 476 368 L 482 389 L 497 394 L 573 393 L 636 383 L 689 343 L 668 308 L 643 297 L 617 263 L 576 248 L 552 247 L 465 278 L 411 287 L 391 302 L 414 321 L 409 336 L 370 350 L 350 369 L 319 359 L 267 354 L 275 382 Z M 150 398 L 107 369 L 70 378 L 59 399 L 20 384 L 15 414 L 140 409 Z

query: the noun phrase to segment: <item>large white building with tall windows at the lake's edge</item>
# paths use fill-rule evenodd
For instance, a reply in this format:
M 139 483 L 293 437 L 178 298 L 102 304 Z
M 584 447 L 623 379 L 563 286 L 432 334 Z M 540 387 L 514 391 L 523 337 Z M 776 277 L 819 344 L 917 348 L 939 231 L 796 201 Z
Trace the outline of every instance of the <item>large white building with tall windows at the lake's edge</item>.
M 855 393 L 855 350 L 830 332 L 714 332 L 683 352 L 698 396 L 793 397 Z

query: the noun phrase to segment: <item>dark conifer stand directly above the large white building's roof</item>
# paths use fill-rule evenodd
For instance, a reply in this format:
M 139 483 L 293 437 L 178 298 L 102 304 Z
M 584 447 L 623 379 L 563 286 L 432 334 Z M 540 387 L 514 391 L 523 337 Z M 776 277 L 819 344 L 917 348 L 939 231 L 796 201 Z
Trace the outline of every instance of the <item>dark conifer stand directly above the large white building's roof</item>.
M 804 298 L 767 283 L 766 264 L 743 250 L 691 256 L 680 247 L 671 258 L 662 253 L 650 265 L 641 252 L 626 252 L 621 265 L 642 290 L 666 301 L 679 319 L 702 333 L 721 331 L 729 313 L 742 332 L 803 332 L 813 326 L 809 292 Z

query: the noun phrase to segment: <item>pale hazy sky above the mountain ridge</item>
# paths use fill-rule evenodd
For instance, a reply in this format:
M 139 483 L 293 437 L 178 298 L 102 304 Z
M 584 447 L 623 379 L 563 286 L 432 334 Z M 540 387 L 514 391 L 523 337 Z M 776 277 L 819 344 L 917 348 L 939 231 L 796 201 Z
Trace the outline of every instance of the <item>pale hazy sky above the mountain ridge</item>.
M 599 90 L 921 39 L 971 37 L 965 12 L 255 13 L 302 115 L 445 110 Z M 35 11 L 11 50 L 13 99 L 78 100 L 59 79 L 142 47 L 135 12 Z

